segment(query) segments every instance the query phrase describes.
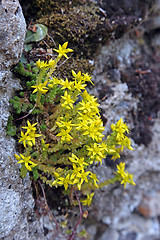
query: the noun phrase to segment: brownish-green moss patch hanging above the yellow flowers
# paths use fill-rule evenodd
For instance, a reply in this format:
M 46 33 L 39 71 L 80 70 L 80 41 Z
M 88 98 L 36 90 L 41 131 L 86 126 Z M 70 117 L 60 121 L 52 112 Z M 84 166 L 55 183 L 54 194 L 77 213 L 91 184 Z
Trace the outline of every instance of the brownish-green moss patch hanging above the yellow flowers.
M 94 58 L 100 43 L 111 39 L 114 31 L 113 27 L 106 30 L 105 18 L 101 16 L 95 3 L 89 0 L 27 2 L 24 0 L 22 7 L 27 19 L 33 19 L 35 16 L 36 23 L 44 24 L 49 29 L 49 35 L 45 38 L 45 42 L 39 42 L 37 48 L 46 49 L 46 43 L 50 48 L 55 48 L 55 43 L 58 45 L 68 41 L 69 47 L 74 49 L 72 54 L 72 60 L 74 60 L 72 62 L 68 60 L 61 68 L 63 69 L 61 73 L 63 72 L 65 77 L 71 76 L 71 71 L 68 69 L 92 73 L 93 66 L 89 64 L 89 60 Z M 28 21 L 28 23 L 30 22 Z M 34 56 L 34 51 L 31 51 L 28 57 L 34 61 L 38 60 L 37 56 Z M 61 73 L 58 74 L 61 76 Z

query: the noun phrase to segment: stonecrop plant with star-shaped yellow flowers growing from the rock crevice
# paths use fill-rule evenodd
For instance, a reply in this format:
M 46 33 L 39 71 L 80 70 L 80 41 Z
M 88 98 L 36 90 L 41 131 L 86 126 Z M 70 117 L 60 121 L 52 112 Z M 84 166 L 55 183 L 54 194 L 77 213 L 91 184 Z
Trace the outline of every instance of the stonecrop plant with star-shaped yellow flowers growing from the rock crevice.
M 56 76 L 59 61 L 73 51 L 67 45 L 65 42 L 54 49 L 55 59 L 38 60 L 34 80 L 26 87 L 28 95 L 21 94 L 21 99 L 11 101 L 18 113 L 28 111 L 21 117 L 22 148 L 15 158 L 21 164 L 22 177 L 32 172 L 34 179 L 41 179 L 50 187 L 64 187 L 68 194 L 73 188 L 82 190 L 81 202 L 89 206 L 97 188 L 116 181 L 124 187 L 127 183 L 135 185 L 122 162 L 117 165 L 114 177 L 105 182 L 99 183 L 92 171 L 92 166 L 102 164 L 107 155 L 114 161 L 124 148 L 133 149 L 126 136 L 128 126 L 122 119 L 111 125 L 109 136 L 104 136 L 98 100 L 86 90 L 88 82 L 93 84 L 89 74 L 71 69 L 70 80 Z M 87 194 L 83 195 L 86 189 Z

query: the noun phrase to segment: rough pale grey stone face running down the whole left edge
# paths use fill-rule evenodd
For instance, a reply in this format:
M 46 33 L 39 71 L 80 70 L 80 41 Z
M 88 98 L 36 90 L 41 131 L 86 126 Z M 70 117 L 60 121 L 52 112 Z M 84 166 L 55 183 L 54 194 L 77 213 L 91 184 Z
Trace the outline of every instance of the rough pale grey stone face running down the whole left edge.
M 19 2 L 0 2 L 0 239 L 30 239 L 34 200 L 29 177 L 22 181 L 14 159 L 15 140 L 6 136 L 9 99 L 20 89 L 10 69 L 22 53 L 26 24 Z M 33 223 L 33 226 L 36 225 Z M 35 227 L 36 229 L 36 227 Z M 31 231 L 32 234 L 33 231 Z M 39 227 L 40 232 L 40 227 Z M 31 235 L 32 235 L 31 234 Z M 36 236 L 36 234 L 35 234 Z M 38 238 L 37 238 L 38 239 Z

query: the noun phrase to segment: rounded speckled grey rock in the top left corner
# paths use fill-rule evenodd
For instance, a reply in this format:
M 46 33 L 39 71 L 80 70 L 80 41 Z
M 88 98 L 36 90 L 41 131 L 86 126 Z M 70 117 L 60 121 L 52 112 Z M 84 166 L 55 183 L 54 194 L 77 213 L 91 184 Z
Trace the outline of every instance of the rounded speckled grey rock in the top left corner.
M 26 23 L 18 0 L 0 3 L 0 69 L 15 65 L 21 56 Z

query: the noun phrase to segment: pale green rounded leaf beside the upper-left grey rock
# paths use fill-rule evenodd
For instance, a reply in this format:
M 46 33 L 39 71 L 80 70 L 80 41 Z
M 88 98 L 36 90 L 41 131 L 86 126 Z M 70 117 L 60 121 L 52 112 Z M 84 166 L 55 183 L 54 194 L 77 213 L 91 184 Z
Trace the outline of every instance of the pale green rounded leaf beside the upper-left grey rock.
M 43 24 L 35 24 L 36 26 L 36 32 L 32 32 L 31 30 L 27 30 L 25 43 L 30 42 L 38 42 L 45 38 L 48 32 L 48 28 L 44 26 Z

